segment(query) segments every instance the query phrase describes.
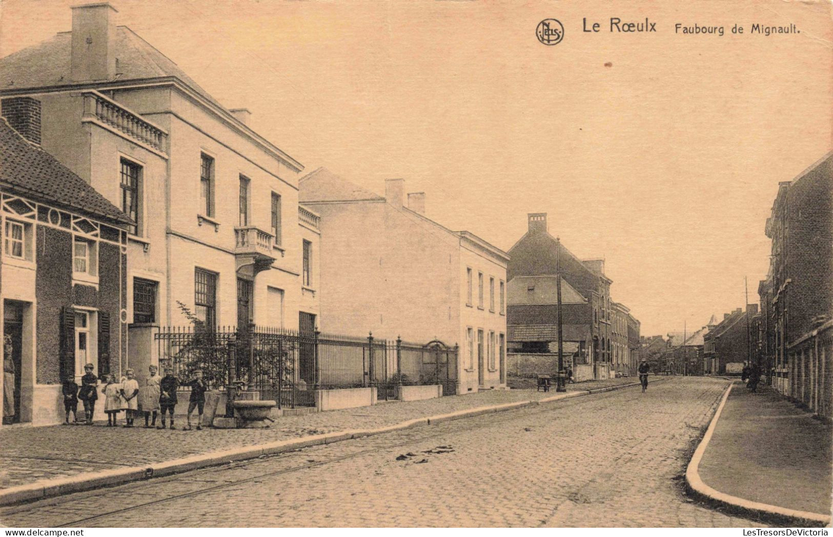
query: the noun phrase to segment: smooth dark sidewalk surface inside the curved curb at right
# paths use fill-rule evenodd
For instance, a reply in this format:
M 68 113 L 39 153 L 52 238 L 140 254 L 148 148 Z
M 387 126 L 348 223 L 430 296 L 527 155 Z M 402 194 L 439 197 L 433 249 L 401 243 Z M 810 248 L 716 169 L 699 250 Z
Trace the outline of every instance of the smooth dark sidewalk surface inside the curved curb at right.
M 831 428 L 774 389 L 735 384 L 699 467 L 703 483 L 737 498 L 831 513 Z

